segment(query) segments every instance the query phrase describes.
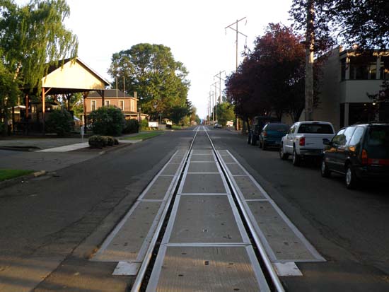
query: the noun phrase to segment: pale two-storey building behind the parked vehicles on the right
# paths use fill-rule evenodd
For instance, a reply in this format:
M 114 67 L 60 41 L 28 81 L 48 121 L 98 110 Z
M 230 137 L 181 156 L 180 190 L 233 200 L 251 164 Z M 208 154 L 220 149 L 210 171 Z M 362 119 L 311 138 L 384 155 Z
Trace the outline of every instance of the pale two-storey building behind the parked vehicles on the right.
M 320 105 L 313 110 L 313 119 L 332 122 L 336 129 L 356 122 L 389 120 L 389 103 L 368 97 L 383 92 L 385 78 L 389 78 L 388 52 L 333 49 L 323 64 Z

